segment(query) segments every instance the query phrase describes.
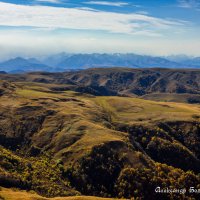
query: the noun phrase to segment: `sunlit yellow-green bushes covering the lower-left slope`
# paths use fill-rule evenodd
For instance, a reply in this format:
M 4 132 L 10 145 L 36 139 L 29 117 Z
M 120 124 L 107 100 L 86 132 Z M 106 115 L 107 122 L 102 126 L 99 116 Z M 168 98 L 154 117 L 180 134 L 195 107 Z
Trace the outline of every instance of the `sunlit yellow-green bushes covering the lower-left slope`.
M 47 197 L 76 195 L 63 171 L 60 161 L 47 156 L 22 158 L 0 147 L 1 186 L 35 190 Z

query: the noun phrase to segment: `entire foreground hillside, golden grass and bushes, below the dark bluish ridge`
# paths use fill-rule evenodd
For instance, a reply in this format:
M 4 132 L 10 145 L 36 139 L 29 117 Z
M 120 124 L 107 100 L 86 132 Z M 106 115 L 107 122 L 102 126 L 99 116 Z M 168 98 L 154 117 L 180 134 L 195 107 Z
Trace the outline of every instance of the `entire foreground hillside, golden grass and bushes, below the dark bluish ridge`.
M 0 82 L 1 186 L 45 197 L 152 199 L 177 198 L 153 193 L 158 184 L 199 187 L 199 104 Z

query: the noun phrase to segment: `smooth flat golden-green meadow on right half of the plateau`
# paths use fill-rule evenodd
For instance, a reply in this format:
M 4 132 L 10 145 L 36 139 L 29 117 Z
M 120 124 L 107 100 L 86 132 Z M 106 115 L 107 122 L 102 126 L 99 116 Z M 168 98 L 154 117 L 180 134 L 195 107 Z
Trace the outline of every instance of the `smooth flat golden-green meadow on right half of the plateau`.
M 160 121 L 191 121 L 200 116 L 200 105 L 155 102 L 139 98 L 96 97 L 92 99 L 112 115 L 114 122 L 152 124 Z

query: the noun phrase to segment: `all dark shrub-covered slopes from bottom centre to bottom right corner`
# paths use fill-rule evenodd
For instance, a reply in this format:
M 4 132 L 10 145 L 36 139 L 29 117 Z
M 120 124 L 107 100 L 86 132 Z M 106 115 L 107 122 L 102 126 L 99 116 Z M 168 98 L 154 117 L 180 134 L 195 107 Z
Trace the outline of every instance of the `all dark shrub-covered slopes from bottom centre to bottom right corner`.
M 156 193 L 156 187 L 189 189 L 200 187 L 200 177 L 166 164 L 151 168 L 131 168 L 116 150 L 105 145 L 96 147 L 73 167 L 68 168 L 71 184 L 84 195 L 136 199 L 187 199 L 198 194 Z

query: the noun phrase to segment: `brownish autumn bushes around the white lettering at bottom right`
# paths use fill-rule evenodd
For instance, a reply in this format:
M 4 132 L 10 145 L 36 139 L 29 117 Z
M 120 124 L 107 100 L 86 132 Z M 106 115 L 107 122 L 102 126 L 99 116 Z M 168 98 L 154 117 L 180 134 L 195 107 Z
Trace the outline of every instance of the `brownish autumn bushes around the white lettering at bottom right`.
M 185 194 L 156 193 L 157 187 L 166 189 L 186 189 Z M 200 177 L 193 172 L 157 163 L 154 169 L 125 168 L 121 171 L 115 188 L 118 197 L 138 199 L 189 199 L 198 198 L 199 194 L 190 194 L 189 188 L 200 187 Z

